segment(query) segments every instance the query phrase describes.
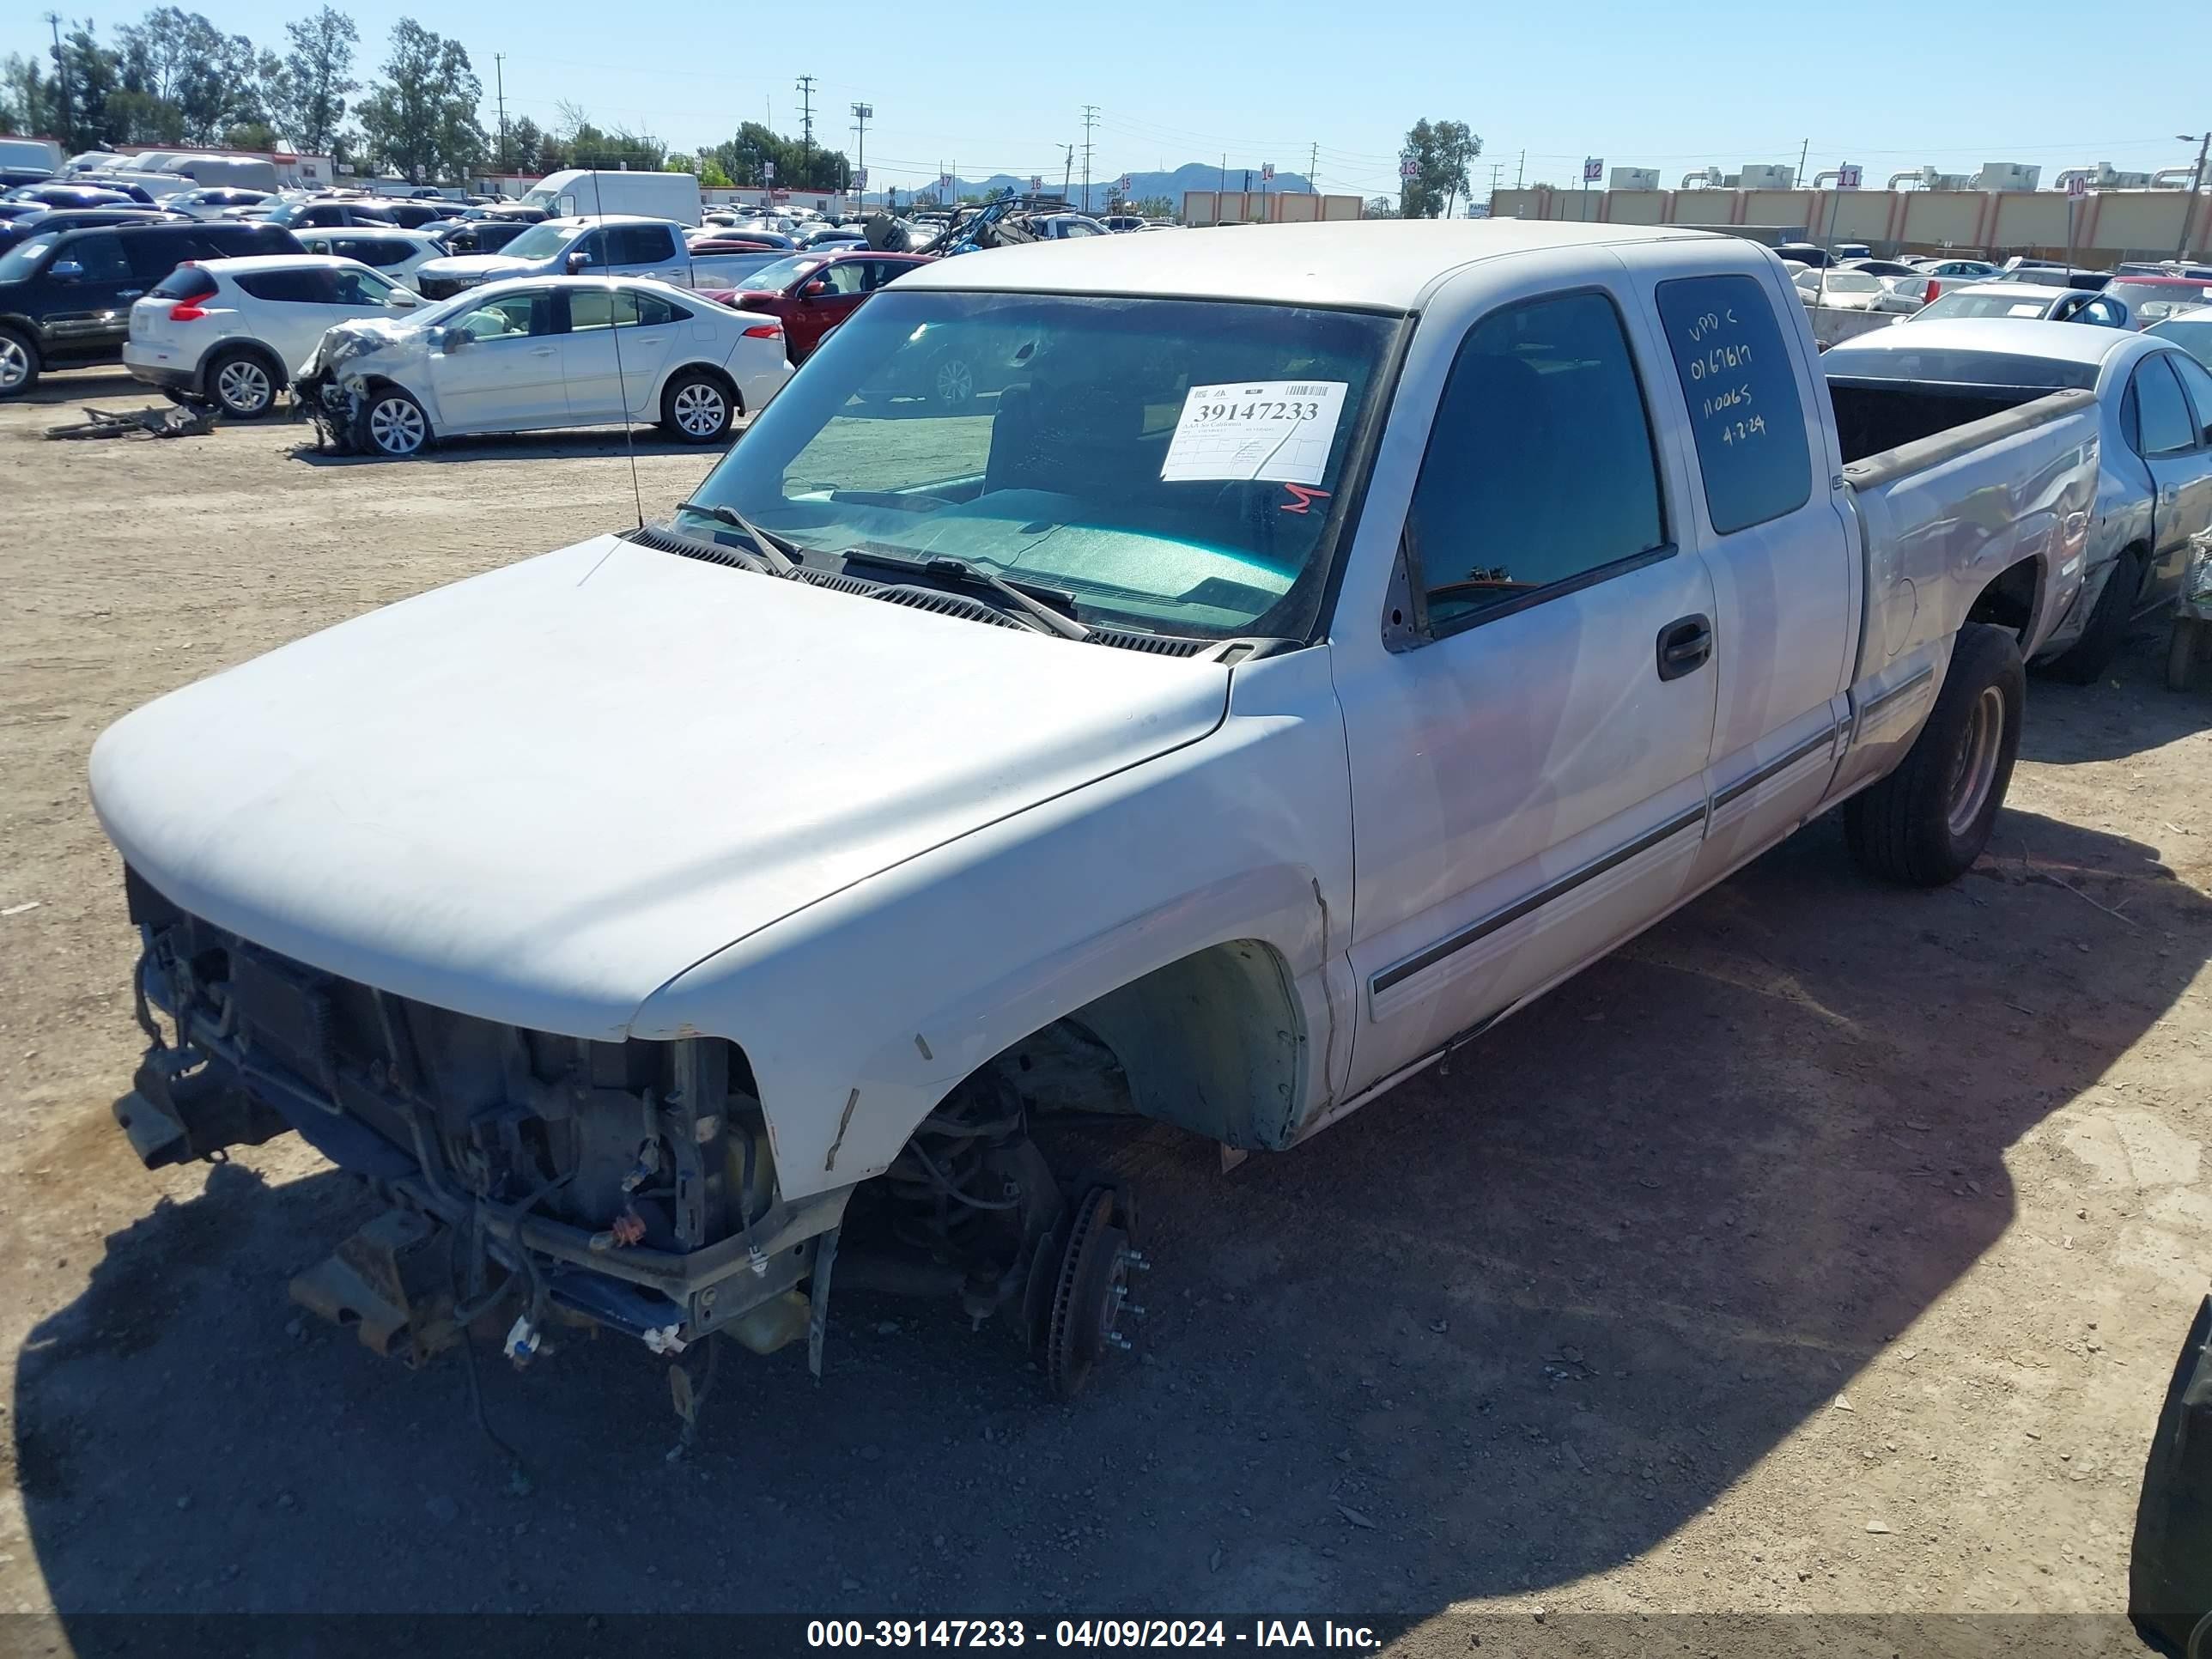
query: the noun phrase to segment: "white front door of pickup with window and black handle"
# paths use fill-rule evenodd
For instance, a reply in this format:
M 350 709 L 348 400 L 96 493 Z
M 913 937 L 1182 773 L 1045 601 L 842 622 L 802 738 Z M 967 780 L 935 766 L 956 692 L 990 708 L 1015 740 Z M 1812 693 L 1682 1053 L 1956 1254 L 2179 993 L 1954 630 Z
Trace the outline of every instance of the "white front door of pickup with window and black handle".
M 1663 914 L 1703 841 L 1714 586 L 1655 440 L 1663 363 L 1626 272 L 1593 285 L 1586 250 L 1531 254 L 1500 292 L 1500 265 L 1420 323 L 1451 330 L 1451 367 L 1400 571 L 1380 617 L 1340 613 L 1332 637 L 1358 880 L 1349 1088 Z

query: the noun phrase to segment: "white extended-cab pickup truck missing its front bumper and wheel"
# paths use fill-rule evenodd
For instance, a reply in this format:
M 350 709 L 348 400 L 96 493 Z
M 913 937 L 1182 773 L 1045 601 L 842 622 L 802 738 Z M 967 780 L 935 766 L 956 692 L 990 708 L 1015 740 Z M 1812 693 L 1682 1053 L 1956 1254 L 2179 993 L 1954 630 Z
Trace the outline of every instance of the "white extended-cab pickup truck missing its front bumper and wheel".
M 885 392 L 951 358 L 989 392 Z M 294 1294 L 385 1352 L 495 1310 L 818 1365 L 834 1281 L 1075 1389 L 1144 1263 L 1068 1113 L 1292 1146 L 1836 805 L 1955 878 L 2095 487 L 2088 392 L 1843 453 L 1734 237 L 942 261 L 670 524 L 100 739 L 117 1115 L 374 1181 Z

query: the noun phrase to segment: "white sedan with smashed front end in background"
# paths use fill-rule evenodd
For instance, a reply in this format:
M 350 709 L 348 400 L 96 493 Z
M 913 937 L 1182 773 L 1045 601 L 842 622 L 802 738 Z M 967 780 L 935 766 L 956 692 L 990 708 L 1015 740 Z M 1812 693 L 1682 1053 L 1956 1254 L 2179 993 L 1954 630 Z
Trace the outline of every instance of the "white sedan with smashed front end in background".
M 296 389 L 338 449 L 411 456 L 467 431 L 633 420 L 712 445 L 790 376 L 776 316 L 635 276 L 522 276 L 334 327 Z

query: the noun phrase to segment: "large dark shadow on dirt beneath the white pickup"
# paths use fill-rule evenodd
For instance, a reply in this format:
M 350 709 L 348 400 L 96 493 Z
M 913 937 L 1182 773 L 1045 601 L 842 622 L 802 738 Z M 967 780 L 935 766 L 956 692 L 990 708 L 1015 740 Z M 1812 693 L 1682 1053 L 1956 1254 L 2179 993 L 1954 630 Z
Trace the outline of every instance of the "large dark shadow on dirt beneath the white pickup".
M 845 1296 L 721 1356 L 418 1376 L 283 1283 L 367 1203 L 243 1164 L 108 1239 L 20 1363 L 64 1621 L 131 1608 L 1343 1613 L 1398 1628 L 1659 1544 L 1964 1274 L 2004 1155 L 2199 971 L 2154 849 L 2006 814 L 2135 927 L 1991 860 L 1878 889 L 1820 823 L 1531 1013 L 1283 1155 L 1135 1130 L 1150 1318 L 1075 1407 L 1013 1338 Z M 2104 891 L 2084 885 L 2084 891 Z M 2081 942 L 2095 933 L 2095 951 Z M 119 1137 L 115 1137 L 119 1139 Z M 122 1155 L 102 1179 L 131 1179 Z

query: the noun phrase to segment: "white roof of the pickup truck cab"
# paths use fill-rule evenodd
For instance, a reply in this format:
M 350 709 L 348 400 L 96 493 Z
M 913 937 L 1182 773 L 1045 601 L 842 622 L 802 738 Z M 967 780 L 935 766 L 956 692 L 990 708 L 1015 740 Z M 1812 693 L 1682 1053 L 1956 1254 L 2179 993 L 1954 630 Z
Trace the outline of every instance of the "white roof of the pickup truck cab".
M 909 288 L 1051 294 L 1177 294 L 1292 305 L 1411 310 L 1438 276 L 1480 259 L 1544 248 L 1688 241 L 1710 230 L 1542 219 L 1365 219 L 1228 226 L 1179 237 L 1082 237 L 940 259 Z

